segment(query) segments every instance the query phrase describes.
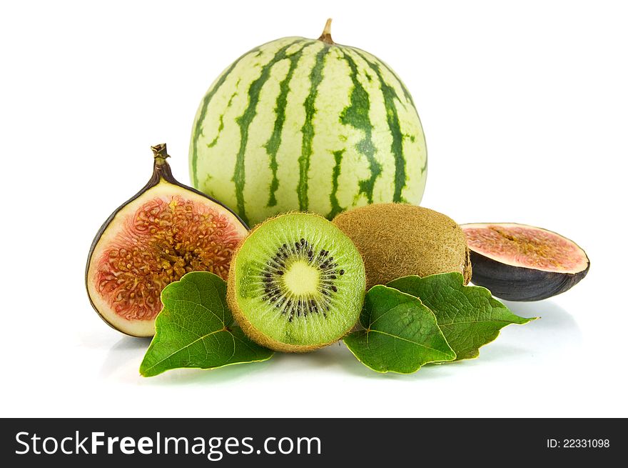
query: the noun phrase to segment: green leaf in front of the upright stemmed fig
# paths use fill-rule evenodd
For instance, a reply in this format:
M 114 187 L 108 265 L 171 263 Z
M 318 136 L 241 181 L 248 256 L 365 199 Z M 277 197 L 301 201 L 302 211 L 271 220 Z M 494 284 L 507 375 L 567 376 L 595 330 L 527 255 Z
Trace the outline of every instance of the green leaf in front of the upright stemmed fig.
M 226 294 L 223 279 L 209 272 L 191 272 L 168 284 L 140 373 L 152 377 L 179 367 L 213 369 L 270 359 L 273 352 L 250 341 L 233 321 Z

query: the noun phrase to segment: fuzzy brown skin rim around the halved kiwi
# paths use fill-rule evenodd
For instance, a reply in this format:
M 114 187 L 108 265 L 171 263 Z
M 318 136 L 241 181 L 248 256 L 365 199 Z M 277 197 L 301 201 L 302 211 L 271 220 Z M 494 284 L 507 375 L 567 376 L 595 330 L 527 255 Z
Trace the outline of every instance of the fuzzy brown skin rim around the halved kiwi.
M 255 225 L 255 227 L 248 233 L 248 235 L 238 243 L 238 247 L 236 247 L 236 250 L 233 252 L 233 256 L 231 257 L 231 264 L 229 265 L 229 276 L 227 279 L 227 305 L 229 309 L 231 310 L 231 314 L 233 314 L 233 318 L 236 319 L 236 322 L 238 322 L 238 325 L 240 325 L 240 328 L 242 329 L 244 334 L 250 339 L 252 339 L 255 343 L 260 344 L 261 346 L 266 347 L 268 349 L 273 349 L 273 351 L 289 352 L 289 353 L 306 353 L 306 352 L 314 351 L 315 349 L 329 346 L 330 344 L 334 344 L 335 342 L 338 342 L 344 337 L 346 337 L 348 334 L 350 334 L 350 332 L 353 331 L 353 329 L 355 328 L 355 325 L 358 324 L 359 315 L 358 315 L 358 320 L 356 320 L 355 324 L 353 324 L 353 327 L 348 329 L 348 331 L 342 337 L 339 337 L 338 339 L 333 339 L 330 342 L 325 342 L 325 343 L 320 343 L 320 344 L 303 344 L 303 345 L 288 344 L 288 343 L 279 342 L 278 340 L 274 338 L 268 337 L 262 332 L 260 332 L 258 329 L 253 327 L 253 324 L 249 322 L 245 314 L 243 314 L 243 312 L 240 310 L 240 305 L 238 304 L 238 299 L 236 298 L 236 262 L 238 261 L 238 253 L 240 252 L 240 248 L 244 245 L 246 240 L 251 235 L 253 235 L 253 233 L 257 229 L 259 229 L 260 226 L 262 226 L 262 224 L 265 224 L 266 222 L 272 219 L 283 216 L 284 214 L 295 214 L 295 213 L 305 213 L 305 211 L 290 211 L 289 213 L 278 214 L 277 216 L 268 218 L 262 223 Z M 313 213 L 307 213 L 307 214 L 313 214 Z M 319 215 L 315 215 L 315 216 L 319 216 Z M 323 218 L 323 216 L 319 216 L 319 217 Z

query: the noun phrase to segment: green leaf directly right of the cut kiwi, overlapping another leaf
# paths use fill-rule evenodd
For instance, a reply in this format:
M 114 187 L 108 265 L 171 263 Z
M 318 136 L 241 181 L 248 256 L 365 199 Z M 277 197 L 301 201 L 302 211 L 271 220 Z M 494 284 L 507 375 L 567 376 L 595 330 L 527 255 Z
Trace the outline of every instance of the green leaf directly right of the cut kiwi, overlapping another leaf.
M 396 289 L 375 286 L 366 294 L 360 324 L 345 344 L 365 366 L 377 372 L 411 374 L 428 362 L 456 358 L 432 311 Z

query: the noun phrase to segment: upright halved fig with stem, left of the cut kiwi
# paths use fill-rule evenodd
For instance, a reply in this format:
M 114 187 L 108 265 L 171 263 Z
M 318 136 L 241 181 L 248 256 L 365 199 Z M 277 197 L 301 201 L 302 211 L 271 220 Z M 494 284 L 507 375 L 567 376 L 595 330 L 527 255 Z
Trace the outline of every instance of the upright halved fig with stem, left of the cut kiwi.
M 98 230 L 85 272 L 96 312 L 134 337 L 155 334 L 161 290 L 183 274 L 227 279 L 231 255 L 248 232 L 233 211 L 174 179 L 166 144 L 152 149 L 151 179 Z

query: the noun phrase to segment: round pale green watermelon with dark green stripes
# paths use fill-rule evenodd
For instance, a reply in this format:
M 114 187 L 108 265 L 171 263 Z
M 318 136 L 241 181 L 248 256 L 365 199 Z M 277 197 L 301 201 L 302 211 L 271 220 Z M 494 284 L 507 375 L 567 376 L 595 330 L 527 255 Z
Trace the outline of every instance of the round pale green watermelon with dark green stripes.
M 240 56 L 196 113 L 193 186 L 251 226 L 284 211 L 331 219 L 421 201 L 427 151 L 410 92 L 377 57 L 335 44 L 329 27 Z

